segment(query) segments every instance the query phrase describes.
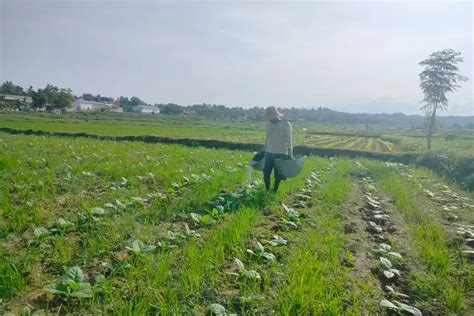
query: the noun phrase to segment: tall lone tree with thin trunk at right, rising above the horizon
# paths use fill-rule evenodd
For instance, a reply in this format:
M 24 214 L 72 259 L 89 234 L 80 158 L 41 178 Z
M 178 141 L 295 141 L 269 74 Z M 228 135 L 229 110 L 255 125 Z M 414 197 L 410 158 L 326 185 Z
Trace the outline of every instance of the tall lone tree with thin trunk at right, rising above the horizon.
M 468 78 L 459 74 L 457 64 L 462 63 L 460 52 L 445 49 L 434 52 L 427 59 L 420 62 L 424 70 L 420 73 L 420 88 L 423 91 L 423 106 L 429 119 L 427 149 L 431 150 L 431 137 L 436 120 L 436 112 L 448 108 L 446 93 L 456 91 L 460 83 Z

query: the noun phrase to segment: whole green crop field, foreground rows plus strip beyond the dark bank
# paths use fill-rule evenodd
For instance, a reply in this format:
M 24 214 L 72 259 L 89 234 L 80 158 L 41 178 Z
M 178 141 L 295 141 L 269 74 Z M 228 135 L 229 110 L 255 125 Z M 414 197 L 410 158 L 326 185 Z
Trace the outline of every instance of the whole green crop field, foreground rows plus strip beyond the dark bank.
M 224 124 L 0 116 L 15 129 L 263 142 L 264 125 Z M 300 143 L 404 150 L 294 127 Z M 266 193 L 252 156 L 0 132 L 0 314 L 473 314 L 472 192 L 412 165 L 309 156 Z

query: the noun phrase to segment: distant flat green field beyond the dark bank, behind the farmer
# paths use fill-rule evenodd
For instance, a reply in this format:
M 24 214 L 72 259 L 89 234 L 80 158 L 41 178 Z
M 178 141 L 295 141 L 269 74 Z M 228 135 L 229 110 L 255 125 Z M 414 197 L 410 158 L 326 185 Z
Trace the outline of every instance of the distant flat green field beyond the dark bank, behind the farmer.
M 128 124 L 124 125 L 124 122 Z M 83 132 L 99 135 L 155 135 L 175 138 L 263 143 L 265 123 L 216 122 L 199 117 L 173 117 L 139 114 L 0 113 L 0 127 L 53 132 Z M 293 122 L 295 145 L 352 149 L 371 152 L 424 152 L 426 139 L 411 130 L 372 126 L 330 126 Z M 454 133 L 454 134 L 453 134 Z M 455 138 L 446 138 L 453 134 Z M 465 132 L 440 131 L 433 139 L 434 152 L 459 157 L 472 156 L 474 136 Z

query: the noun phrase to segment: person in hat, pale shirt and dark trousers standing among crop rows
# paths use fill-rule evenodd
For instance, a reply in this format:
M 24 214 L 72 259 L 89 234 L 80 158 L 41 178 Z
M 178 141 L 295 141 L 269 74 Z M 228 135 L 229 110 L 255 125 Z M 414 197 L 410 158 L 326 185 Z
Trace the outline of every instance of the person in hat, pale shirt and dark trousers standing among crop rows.
M 263 151 L 265 152 L 263 179 L 265 181 L 265 188 L 267 191 L 270 191 L 270 177 L 272 171 L 275 170 L 273 192 L 277 192 L 281 180 L 286 179 L 285 176 L 280 174 L 275 168 L 275 159 L 293 159 L 292 127 L 290 122 L 283 120 L 282 117 L 283 114 L 274 106 L 265 109 L 265 119 L 268 123 L 267 137 L 263 147 Z

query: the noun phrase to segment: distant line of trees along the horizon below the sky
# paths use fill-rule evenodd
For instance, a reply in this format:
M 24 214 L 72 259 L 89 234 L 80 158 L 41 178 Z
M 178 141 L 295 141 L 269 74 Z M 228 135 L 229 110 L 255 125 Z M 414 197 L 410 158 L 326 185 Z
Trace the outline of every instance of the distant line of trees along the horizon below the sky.
M 31 107 L 33 109 L 51 107 L 65 109 L 71 106 L 76 98 L 83 98 L 88 101 L 116 103 L 124 112 L 132 112 L 137 105 L 146 105 L 146 102 L 139 97 L 119 97 L 117 99 L 84 93 L 81 96 L 74 96 L 71 89 L 62 89 L 53 85 L 46 85 L 43 89 L 34 90 L 33 87 L 23 89 L 6 81 L 0 86 L 0 94 L 12 94 L 19 96 L 29 96 L 32 98 Z M 20 104 L 19 106 L 30 106 Z M 160 113 L 164 115 L 196 115 L 218 120 L 233 121 L 262 121 L 264 120 L 264 111 L 261 107 L 243 108 L 226 107 L 216 104 L 193 104 L 179 105 L 175 103 L 155 104 L 160 108 Z M 422 115 L 405 115 L 403 113 L 393 114 L 366 114 L 366 113 L 345 113 L 338 112 L 328 108 L 282 108 L 280 109 L 285 117 L 292 121 L 306 121 L 315 123 L 329 124 L 362 124 L 362 125 L 386 125 L 423 128 L 426 124 L 426 117 Z M 474 117 L 438 117 L 439 124 L 444 127 L 453 127 L 457 129 L 474 129 Z

